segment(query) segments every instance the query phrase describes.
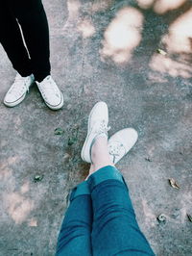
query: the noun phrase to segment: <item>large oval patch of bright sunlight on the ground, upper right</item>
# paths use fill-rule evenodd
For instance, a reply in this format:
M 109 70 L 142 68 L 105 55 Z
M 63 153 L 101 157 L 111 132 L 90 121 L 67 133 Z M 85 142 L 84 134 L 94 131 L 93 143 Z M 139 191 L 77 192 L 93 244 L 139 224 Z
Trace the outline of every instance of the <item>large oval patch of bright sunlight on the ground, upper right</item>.
M 116 13 L 104 34 L 102 60 L 110 58 L 116 64 L 127 63 L 141 41 L 143 15 L 132 7 Z

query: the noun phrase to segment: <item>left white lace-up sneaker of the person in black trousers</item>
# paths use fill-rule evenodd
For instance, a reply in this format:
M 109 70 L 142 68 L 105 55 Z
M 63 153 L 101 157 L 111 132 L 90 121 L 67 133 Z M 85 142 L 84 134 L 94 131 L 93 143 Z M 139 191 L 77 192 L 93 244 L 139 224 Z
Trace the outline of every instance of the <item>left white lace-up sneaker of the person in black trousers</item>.
M 34 75 L 22 77 L 16 74 L 12 87 L 6 93 L 4 104 L 8 107 L 14 107 L 24 100 L 29 88 L 35 82 Z

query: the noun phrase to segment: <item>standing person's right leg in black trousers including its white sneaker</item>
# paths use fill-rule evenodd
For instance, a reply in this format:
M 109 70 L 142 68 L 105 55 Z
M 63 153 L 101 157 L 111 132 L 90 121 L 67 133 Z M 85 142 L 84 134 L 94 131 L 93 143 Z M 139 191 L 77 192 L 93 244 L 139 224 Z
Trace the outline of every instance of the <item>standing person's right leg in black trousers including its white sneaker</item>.
M 59 110 L 64 99 L 50 75 L 49 28 L 41 0 L 12 0 L 12 3 L 30 54 L 36 86 L 45 104 Z

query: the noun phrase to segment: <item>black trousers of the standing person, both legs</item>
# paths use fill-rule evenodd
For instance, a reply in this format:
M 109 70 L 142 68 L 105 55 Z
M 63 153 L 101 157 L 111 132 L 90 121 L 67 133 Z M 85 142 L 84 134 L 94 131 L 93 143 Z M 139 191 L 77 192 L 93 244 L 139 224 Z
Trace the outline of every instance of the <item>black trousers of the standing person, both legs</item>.
M 16 19 L 22 28 L 31 60 Z M 40 0 L 8 0 L 1 4 L 0 42 L 13 67 L 22 76 L 34 73 L 40 82 L 50 74 L 49 29 Z

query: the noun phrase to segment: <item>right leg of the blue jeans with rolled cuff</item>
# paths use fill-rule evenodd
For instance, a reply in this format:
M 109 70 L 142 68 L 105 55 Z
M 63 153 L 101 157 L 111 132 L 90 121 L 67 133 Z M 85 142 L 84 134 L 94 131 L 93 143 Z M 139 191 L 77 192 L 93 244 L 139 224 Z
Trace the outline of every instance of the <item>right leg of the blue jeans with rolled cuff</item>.
M 115 167 L 105 166 L 87 182 L 94 213 L 93 255 L 155 255 L 138 227 L 121 173 Z

